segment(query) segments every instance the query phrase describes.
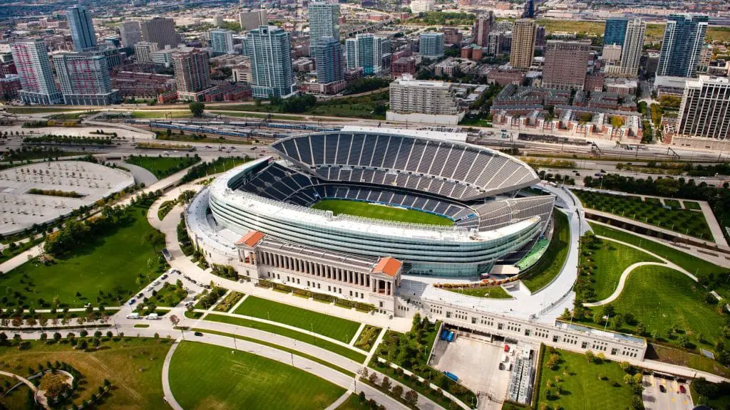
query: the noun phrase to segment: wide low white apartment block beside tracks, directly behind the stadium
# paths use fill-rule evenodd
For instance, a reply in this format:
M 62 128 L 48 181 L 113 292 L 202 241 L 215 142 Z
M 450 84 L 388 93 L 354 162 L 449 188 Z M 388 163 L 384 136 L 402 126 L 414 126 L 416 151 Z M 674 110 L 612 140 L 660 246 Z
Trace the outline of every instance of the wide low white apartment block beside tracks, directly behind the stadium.
M 447 82 L 418 81 L 404 74 L 391 82 L 390 96 L 388 120 L 456 125 L 463 117 Z

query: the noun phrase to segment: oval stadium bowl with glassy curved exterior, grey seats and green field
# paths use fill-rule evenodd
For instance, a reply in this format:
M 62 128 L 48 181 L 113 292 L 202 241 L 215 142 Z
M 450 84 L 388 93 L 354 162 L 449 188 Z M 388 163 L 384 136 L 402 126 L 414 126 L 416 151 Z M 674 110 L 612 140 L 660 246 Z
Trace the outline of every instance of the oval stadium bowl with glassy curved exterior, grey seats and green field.
M 523 190 L 539 182 L 526 163 L 464 142 L 326 131 L 271 149 L 275 155 L 226 172 L 196 197 L 202 205 L 193 209 L 210 231 L 391 256 L 404 274 L 477 276 L 528 252 L 555 201 Z

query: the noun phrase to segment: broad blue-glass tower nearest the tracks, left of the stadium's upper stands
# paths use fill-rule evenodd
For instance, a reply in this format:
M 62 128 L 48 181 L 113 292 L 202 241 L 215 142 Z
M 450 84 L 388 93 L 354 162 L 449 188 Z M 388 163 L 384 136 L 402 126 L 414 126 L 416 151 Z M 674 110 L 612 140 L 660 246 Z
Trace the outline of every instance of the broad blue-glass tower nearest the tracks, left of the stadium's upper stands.
M 296 92 L 291 66 L 291 38 L 277 26 L 261 26 L 248 34 L 253 96 L 287 98 Z

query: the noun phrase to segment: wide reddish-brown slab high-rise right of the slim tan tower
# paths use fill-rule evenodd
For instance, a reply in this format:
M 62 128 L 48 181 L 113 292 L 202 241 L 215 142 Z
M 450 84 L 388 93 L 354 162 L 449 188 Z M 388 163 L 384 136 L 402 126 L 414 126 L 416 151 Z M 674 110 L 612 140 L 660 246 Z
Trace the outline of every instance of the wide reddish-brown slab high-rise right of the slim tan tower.
M 590 40 L 548 40 L 545 44 L 542 87 L 583 90 L 590 55 Z

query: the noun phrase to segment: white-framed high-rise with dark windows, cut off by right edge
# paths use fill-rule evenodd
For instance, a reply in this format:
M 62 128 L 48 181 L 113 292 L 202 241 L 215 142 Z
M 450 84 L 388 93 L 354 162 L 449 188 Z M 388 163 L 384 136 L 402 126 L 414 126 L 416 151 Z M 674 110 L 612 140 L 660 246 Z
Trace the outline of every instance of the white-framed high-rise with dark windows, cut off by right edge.
M 730 79 L 701 75 L 687 80 L 677 134 L 730 139 Z

